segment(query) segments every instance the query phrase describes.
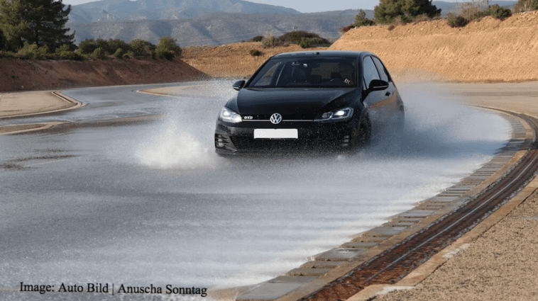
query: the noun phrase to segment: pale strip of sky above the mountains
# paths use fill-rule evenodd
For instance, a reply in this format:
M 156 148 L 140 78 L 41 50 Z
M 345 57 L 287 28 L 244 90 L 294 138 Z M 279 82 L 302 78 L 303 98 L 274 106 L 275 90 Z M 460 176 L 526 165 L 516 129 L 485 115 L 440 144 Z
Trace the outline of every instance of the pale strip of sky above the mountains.
M 249 2 L 271 4 L 293 8 L 302 13 L 314 13 L 317 11 L 342 11 L 344 9 L 373 9 L 379 4 L 379 0 L 248 0 Z M 458 2 L 456 0 L 443 0 L 446 2 Z M 63 4 L 84 4 L 92 0 L 62 0 Z M 459 2 L 463 2 L 459 1 Z

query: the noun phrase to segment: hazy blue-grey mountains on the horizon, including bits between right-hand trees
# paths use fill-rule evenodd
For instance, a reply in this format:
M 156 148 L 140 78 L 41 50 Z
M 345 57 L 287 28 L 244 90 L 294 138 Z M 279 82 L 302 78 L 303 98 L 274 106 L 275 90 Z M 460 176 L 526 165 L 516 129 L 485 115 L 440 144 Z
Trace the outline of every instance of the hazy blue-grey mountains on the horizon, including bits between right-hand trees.
M 443 16 L 456 3 L 434 1 Z M 515 1 L 490 1 L 513 6 Z M 373 19 L 373 11 L 365 10 Z M 103 0 L 72 6 L 67 27 L 77 43 L 103 38 L 157 43 L 168 35 L 181 46 L 222 45 L 256 35 L 282 35 L 292 30 L 317 33 L 327 40 L 340 37 L 340 28 L 353 23 L 358 9 L 300 13 L 292 8 L 242 0 Z

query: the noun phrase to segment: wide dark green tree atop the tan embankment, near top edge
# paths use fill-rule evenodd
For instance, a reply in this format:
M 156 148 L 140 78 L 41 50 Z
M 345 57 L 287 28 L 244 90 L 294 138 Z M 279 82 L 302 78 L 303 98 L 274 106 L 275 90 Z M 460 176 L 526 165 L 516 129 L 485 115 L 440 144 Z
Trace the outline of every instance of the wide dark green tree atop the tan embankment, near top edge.
M 416 16 L 433 18 L 441 14 L 441 9 L 437 9 L 431 0 L 380 0 L 373 11 L 375 23 L 390 23 L 398 16 L 403 21 L 410 21 Z

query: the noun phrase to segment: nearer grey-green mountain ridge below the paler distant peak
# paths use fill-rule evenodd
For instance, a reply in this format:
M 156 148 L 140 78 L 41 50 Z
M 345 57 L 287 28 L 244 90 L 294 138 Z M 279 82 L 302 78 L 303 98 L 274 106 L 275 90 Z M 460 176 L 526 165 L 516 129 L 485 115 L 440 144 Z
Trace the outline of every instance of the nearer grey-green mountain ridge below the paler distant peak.
M 168 35 L 180 46 L 241 42 L 256 35 L 282 35 L 292 30 L 314 32 L 328 40 L 339 38 L 339 28 L 353 23 L 358 11 L 328 13 L 206 13 L 195 18 L 69 23 L 75 40 L 86 38 L 147 40 L 156 44 Z

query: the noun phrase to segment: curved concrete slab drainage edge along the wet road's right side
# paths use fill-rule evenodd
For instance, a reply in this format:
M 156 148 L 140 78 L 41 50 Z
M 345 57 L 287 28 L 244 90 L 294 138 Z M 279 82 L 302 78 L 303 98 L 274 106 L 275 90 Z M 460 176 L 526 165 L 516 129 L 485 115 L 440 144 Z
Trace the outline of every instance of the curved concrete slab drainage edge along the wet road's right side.
M 308 261 L 283 276 L 243 290 L 236 300 L 299 300 L 302 298 L 304 300 L 345 300 L 366 288 L 370 283 L 362 286 L 353 284 L 350 280 L 353 273 L 356 274 L 358 270 L 364 269 L 361 266 L 368 266 L 375 259 L 383 258 L 384 254 L 395 249 L 395 246 L 409 241 L 410 237 L 412 239 L 418 236 L 420 232 L 431 228 L 439 220 L 446 219 L 446 216 L 451 215 L 452 212 L 461 210 L 465 205 L 479 198 L 484 191 L 495 190 L 490 187 L 495 186 L 500 179 L 512 176 L 509 173 L 513 172 L 516 166 L 522 165 L 520 161 L 530 156 L 529 149 L 532 149 L 535 142 L 535 128 L 538 127 L 536 120 L 527 116 L 518 117 L 509 112 L 500 113 L 512 125 L 512 138 L 493 159 L 473 172 L 471 176 L 463 178 L 459 183 L 446 188 L 433 198 L 419 202 L 412 210 L 395 215 L 380 227 L 356 234 L 351 242 L 312 256 L 313 261 Z M 536 165 L 534 161 L 532 164 Z M 534 175 L 534 171 L 531 174 Z M 497 205 L 495 209 L 502 204 Z M 485 217 L 481 217 L 481 220 L 483 218 Z M 473 226 L 481 220 L 480 218 L 476 220 Z M 461 231 L 461 234 L 456 234 L 456 238 L 464 233 L 464 230 Z M 434 253 L 441 251 L 454 240 L 455 238 L 440 246 L 434 246 Z M 407 268 L 404 268 L 405 271 L 401 272 L 401 276 L 398 276 L 399 278 L 389 279 L 388 283 L 400 280 L 430 256 L 432 255 L 427 255 L 425 259 L 418 259 L 418 263 L 408 264 Z

